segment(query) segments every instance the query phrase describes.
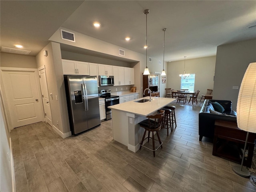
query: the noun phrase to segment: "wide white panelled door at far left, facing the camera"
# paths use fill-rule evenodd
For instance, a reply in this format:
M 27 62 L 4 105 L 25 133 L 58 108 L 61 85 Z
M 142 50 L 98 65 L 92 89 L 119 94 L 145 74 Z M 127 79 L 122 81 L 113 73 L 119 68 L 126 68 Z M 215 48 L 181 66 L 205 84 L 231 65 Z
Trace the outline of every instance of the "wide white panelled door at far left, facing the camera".
M 2 70 L 12 128 L 42 121 L 36 70 Z

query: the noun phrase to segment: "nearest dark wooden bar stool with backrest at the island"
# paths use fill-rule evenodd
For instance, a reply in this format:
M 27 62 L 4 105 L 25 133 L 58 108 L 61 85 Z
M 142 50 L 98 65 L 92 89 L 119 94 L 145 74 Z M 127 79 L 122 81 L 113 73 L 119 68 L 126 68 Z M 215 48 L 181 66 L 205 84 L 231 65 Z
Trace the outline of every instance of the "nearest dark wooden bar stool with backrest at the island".
M 163 142 L 160 140 L 158 130 L 162 126 L 162 120 L 163 120 L 163 117 L 164 117 L 164 110 L 158 110 L 158 114 L 149 115 L 149 116 L 146 116 L 146 117 L 148 119 L 143 120 L 142 122 L 139 123 L 139 125 L 145 129 L 142 140 L 140 142 L 140 149 L 141 149 L 141 147 L 147 148 L 148 150 L 153 152 L 154 157 L 155 157 L 156 150 L 158 150 L 158 148 L 160 146 L 161 146 L 161 148 L 163 148 L 162 147 Z M 148 137 L 145 138 L 147 131 L 148 131 Z M 152 137 L 150 137 L 150 132 L 152 132 Z M 155 148 L 154 132 L 156 132 L 156 135 L 158 137 L 158 142 L 159 142 L 159 146 L 157 148 Z M 148 139 L 148 142 L 149 142 L 149 138 L 152 138 L 152 149 L 143 145 L 144 140 Z

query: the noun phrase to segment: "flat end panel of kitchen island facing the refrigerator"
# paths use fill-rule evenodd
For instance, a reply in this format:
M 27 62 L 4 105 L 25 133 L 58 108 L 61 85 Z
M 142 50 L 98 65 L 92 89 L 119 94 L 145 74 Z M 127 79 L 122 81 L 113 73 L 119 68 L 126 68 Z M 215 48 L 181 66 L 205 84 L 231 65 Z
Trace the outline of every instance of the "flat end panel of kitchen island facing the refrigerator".
M 112 109 L 113 139 L 128 146 L 128 117 L 126 112 Z

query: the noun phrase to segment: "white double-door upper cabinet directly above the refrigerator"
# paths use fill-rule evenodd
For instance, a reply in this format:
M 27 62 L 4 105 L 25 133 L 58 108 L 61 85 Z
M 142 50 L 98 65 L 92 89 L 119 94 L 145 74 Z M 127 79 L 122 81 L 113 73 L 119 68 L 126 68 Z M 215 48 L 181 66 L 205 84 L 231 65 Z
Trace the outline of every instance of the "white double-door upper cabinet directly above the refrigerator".
M 89 63 L 62 59 L 64 75 L 90 75 Z

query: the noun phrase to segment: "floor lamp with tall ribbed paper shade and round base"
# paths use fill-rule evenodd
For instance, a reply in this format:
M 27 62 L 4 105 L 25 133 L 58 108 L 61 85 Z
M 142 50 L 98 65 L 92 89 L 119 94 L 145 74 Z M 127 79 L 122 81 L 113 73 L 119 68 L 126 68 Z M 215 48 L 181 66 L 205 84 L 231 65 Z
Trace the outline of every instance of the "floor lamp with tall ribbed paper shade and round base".
M 241 166 L 233 166 L 233 171 L 243 177 L 250 172 L 243 166 L 249 132 L 256 133 L 256 62 L 250 63 L 240 86 L 237 101 L 237 126 L 247 132 Z

